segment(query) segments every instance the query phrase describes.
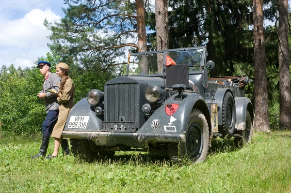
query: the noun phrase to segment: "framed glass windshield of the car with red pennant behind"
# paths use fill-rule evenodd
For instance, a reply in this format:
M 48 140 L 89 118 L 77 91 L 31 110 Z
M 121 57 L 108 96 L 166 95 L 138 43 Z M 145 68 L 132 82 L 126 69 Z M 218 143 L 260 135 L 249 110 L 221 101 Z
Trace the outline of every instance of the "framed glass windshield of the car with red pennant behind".
M 157 52 L 133 53 L 129 56 L 128 75 L 162 74 L 163 63 L 188 65 L 189 72 L 203 70 L 203 48 L 173 49 Z M 129 53 L 130 54 L 130 53 Z M 165 56 L 164 56 L 165 55 Z M 165 58 L 164 58 L 165 57 Z

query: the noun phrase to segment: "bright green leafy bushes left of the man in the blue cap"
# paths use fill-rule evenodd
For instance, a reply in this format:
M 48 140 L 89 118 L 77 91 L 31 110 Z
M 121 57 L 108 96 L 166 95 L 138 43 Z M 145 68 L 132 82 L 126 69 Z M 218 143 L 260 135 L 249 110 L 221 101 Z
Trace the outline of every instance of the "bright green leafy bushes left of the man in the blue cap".
M 24 78 L 16 71 L 1 78 L 0 122 L 3 134 L 31 134 L 39 131 L 44 119 L 45 106 L 36 96 L 41 87 L 34 84 L 37 78 L 30 72 Z

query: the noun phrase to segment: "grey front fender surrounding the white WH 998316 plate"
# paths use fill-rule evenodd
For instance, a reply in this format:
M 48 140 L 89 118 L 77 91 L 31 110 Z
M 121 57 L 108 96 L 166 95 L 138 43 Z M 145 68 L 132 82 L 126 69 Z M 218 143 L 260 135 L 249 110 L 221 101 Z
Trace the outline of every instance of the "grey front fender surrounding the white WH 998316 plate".
M 87 127 L 85 129 L 68 128 L 71 116 L 89 116 Z M 98 132 L 101 128 L 102 120 L 96 116 L 95 111 L 91 110 L 91 105 L 88 103 L 87 98 L 83 98 L 72 108 L 66 120 L 64 131 Z

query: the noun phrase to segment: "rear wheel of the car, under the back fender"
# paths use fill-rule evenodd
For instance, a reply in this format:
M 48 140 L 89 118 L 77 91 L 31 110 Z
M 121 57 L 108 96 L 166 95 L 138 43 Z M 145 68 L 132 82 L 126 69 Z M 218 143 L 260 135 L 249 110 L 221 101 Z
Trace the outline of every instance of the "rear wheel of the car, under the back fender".
M 242 131 L 241 136 L 234 137 L 234 144 L 236 147 L 242 147 L 246 143 L 252 142 L 253 124 L 250 112 L 246 110 L 245 114 L 245 129 Z

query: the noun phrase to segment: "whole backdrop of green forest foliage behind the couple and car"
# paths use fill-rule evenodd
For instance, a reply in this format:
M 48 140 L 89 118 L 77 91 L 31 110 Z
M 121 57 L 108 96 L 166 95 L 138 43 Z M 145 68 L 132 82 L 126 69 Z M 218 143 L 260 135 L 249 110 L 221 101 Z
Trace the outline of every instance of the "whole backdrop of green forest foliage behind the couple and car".
M 75 103 L 86 97 L 90 89 L 103 90 L 105 82 L 116 76 L 113 64 L 127 59 L 129 51 L 141 51 L 141 39 L 146 39 L 147 51 L 157 50 L 161 44 L 161 36 L 157 39 L 156 33 L 155 6 L 148 0 L 65 0 L 65 3 L 68 8 L 64 9 L 61 23 L 44 21 L 52 32 L 50 51 L 35 59 L 35 66 L 38 61 L 47 60 L 54 71 L 58 62 L 68 63 L 76 85 Z M 277 4 L 276 0 L 265 0 L 263 6 L 264 19 L 275 23 L 264 29 L 268 40 L 265 75 L 269 123 L 273 131 L 280 129 Z M 146 37 L 139 36 L 140 7 L 144 10 Z M 210 72 L 212 76 L 245 74 L 256 81 L 252 0 L 168 0 L 168 8 L 168 48 L 207 45 L 209 59 L 216 64 Z M 290 20 L 289 9 L 289 53 Z M 46 112 L 37 93 L 42 84 L 43 76 L 36 67 L 16 69 L 11 64 L 0 68 L 0 134 L 41 132 Z M 254 102 L 254 84 L 245 89 Z

